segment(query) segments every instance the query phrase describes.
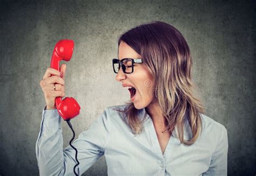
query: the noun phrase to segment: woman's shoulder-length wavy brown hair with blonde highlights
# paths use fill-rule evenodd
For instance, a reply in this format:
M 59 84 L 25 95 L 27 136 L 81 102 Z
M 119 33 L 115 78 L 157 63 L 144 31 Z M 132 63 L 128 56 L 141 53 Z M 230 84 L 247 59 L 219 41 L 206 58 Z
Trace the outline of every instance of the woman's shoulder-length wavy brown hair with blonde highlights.
M 143 63 L 154 77 L 154 97 L 164 113 L 165 131 L 172 134 L 177 125 L 180 143 L 194 144 L 202 130 L 200 113 L 204 113 L 204 107 L 193 93 L 196 86 L 191 80 L 192 58 L 183 35 L 170 24 L 153 21 L 123 33 L 118 46 L 122 41 L 142 56 Z M 126 104 L 124 110 L 118 111 L 125 114 L 133 133 L 139 134 L 145 117 L 139 120 L 132 101 Z M 185 118 L 192 131 L 190 140 L 183 136 Z

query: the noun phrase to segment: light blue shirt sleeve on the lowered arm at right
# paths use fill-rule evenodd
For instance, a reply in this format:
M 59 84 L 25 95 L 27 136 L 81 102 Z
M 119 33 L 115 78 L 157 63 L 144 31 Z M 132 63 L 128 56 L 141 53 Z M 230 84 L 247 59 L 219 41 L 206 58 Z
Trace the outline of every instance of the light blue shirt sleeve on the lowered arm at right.
M 227 175 L 227 129 L 223 126 L 218 145 L 212 154 L 210 167 L 203 175 Z

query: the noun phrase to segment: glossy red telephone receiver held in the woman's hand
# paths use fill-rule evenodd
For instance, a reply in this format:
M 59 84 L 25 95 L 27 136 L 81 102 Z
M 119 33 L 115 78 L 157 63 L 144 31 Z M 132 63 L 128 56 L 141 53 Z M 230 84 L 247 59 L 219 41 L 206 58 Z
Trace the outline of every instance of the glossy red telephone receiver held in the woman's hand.
M 65 60 L 69 62 L 72 57 L 74 48 L 74 42 L 71 39 L 62 39 L 59 40 L 52 53 L 51 58 L 51 68 L 60 71 L 59 62 L 60 60 Z M 70 120 L 76 116 L 78 116 L 80 112 L 80 106 L 77 101 L 72 97 L 66 97 L 62 99 L 62 97 L 55 98 L 55 105 L 60 114 L 60 116 L 64 120 Z

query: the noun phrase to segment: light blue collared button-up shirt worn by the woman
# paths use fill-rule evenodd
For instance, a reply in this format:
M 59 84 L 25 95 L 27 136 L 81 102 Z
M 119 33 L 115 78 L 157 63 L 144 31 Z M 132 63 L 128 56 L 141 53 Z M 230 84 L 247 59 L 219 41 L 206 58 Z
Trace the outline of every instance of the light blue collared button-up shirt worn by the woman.
M 143 132 L 137 136 L 113 108 L 107 107 L 79 134 L 72 145 L 78 150 L 79 175 L 105 155 L 108 175 L 227 175 L 228 138 L 224 125 L 200 114 L 203 133 L 191 146 L 180 144 L 173 132 L 164 154 L 158 142 L 152 119 L 146 113 Z M 36 157 L 40 175 L 75 175 L 75 150 L 69 145 L 63 150 L 62 127 L 57 110 L 43 110 L 41 128 L 36 141 Z M 188 120 L 184 138 L 192 137 Z M 174 135 L 175 133 L 175 135 Z

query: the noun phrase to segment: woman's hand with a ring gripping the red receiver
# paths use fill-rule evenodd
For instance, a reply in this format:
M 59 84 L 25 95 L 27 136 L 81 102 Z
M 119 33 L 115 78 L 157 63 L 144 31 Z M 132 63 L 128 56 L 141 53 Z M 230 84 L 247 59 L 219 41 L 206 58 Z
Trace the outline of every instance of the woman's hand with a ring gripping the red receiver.
M 40 86 L 44 92 L 46 110 L 56 109 L 55 98 L 65 96 L 65 71 L 66 64 L 60 66 L 60 72 L 50 67 L 46 69 L 43 80 L 40 82 Z M 54 85 L 56 90 L 54 90 Z

